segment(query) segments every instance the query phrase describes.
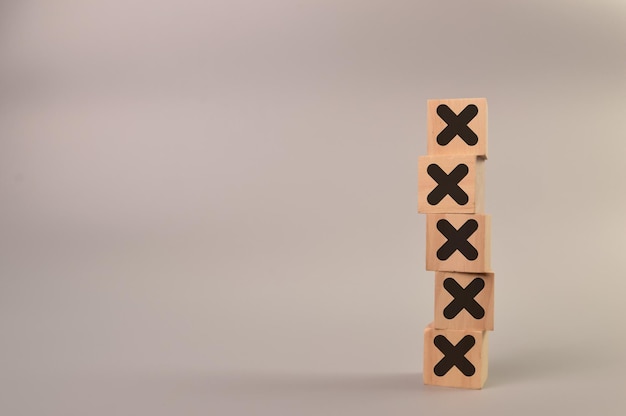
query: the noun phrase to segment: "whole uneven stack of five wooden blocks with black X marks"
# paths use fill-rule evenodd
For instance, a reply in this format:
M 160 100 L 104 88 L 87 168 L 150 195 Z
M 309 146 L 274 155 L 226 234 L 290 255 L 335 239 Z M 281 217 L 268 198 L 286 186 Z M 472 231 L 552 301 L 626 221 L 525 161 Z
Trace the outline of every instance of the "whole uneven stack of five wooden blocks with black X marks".
M 428 155 L 418 160 L 426 270 L 435 319 L 424 330 L 424 383 L 480 389 L 493 330 L 491 218 L 484 213 L 487 100 L 429 100 Z

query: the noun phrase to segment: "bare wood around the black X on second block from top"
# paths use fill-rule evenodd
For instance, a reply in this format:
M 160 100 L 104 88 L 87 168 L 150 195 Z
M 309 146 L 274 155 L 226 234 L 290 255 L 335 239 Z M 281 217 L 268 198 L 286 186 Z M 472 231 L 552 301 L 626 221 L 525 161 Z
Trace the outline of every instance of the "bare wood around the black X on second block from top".
M 436 179 L 428 173 L 429 166 L 435 165 L 450 174 L 461 165 L 468 168 L 467 175 L 458 182 L 468 200 L 465 204 L 446 195 L 437 203 L 429 202 L 429 195 L 438 186 Z M 417 212 L 420 213 L 482 213 L 485 200 L 485 161 L 476 156 L 421 156 L 417 162 Z

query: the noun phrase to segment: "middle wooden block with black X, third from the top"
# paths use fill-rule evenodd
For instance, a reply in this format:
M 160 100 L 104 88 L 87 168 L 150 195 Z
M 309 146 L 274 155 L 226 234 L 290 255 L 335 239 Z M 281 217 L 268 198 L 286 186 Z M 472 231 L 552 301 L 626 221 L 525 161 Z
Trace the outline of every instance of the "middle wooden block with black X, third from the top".
M 491 217 L 427 214 L 426 270 L 491 272 Z

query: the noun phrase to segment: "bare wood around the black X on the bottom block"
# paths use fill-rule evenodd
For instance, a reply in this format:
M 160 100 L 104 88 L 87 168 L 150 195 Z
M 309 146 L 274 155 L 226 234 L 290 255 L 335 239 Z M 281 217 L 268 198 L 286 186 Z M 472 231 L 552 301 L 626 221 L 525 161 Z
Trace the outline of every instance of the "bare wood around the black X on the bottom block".
M 444 358 L 444 354 L 435 345 L 435 337 L 442 335 L 451 344 L 457 345 L 469 335 L 475 344 L 464 357 L 474 366 L 474 374 L 467 376 L 458 367 L 453 366 L 444 375 L 435 373 L 435 366 Z M 481 389 L 488 376 L 488 332 L 477 330 L 435 329 L 428 325 L 424 330 L 424 384 L 465 389 Z

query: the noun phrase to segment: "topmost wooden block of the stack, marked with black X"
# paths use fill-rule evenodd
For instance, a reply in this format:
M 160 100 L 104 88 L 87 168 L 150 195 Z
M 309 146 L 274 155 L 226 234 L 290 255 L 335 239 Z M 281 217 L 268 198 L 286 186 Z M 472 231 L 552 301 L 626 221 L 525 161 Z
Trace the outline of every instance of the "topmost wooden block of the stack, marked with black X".
M 487 100 L 428 100 L 429 155 L 475 155 L 487 158 Z

